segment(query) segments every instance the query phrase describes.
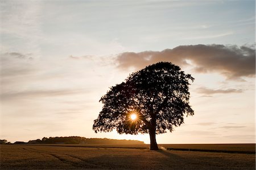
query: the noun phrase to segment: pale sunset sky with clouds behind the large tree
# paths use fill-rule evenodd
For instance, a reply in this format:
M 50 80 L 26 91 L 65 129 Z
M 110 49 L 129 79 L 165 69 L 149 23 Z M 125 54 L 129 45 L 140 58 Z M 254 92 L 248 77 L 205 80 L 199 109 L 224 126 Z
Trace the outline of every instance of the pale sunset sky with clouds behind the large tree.
M 1 1 L 1 139 L 92 130 L 111 86 L 168 61 L 193 117 L 158 143 L 255 143 L 255 1 Z

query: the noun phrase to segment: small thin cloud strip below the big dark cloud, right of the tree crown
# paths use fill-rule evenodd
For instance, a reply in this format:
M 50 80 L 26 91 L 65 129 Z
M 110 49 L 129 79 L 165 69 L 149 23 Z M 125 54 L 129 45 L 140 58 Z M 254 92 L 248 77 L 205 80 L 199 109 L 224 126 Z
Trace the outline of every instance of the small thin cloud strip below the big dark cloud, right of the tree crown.
M 228 94 L 228 93 L 242 93 L 243 90 L 241 89 L 208 89 L 208 88 L 197 88 L 198 93 L 202 93 L 205 95 L 210 95 L 210 94 Z

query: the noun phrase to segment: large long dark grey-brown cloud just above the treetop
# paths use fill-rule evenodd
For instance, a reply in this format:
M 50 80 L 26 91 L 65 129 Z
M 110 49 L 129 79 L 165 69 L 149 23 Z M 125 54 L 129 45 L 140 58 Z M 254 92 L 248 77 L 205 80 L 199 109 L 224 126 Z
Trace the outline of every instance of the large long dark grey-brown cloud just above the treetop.
M 217 72 L 228 79 L 255 75 L 255 48 L 236 45 L 180 45 L 163 51 L 124 52 L 115 61 L 120 69 L 141 69 L 159 61 L 184 67 L 197 73 Z

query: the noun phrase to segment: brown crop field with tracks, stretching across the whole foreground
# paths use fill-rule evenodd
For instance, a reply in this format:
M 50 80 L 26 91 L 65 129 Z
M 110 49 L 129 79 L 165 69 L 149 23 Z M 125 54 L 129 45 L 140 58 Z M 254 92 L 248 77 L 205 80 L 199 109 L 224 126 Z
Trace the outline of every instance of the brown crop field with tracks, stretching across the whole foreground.
M 255 151 L 244 145 L 162 145 L 166 148 Z M 0 169 L 255 169 L 255 154 L 161 150 L 141 146 L 1 145 Z M 225 149 L 226 148 L 226 149 Z

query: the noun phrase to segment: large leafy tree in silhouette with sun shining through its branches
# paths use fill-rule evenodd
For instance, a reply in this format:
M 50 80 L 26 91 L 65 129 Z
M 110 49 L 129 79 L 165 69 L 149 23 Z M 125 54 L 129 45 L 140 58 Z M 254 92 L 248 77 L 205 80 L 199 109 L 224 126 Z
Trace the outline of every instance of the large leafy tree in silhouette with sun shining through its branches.
M 184 114 L 193 115 L 189 105 L 189 80 L 172 63 L 160 62 L 130 74 L 101 97 L 104 105 L 94 120 L 95 132 L 150 134 L 150 150 L 158 150 L 156 134 L 184 123 Z M 137 118 L 135 118 L 137 117 Z

